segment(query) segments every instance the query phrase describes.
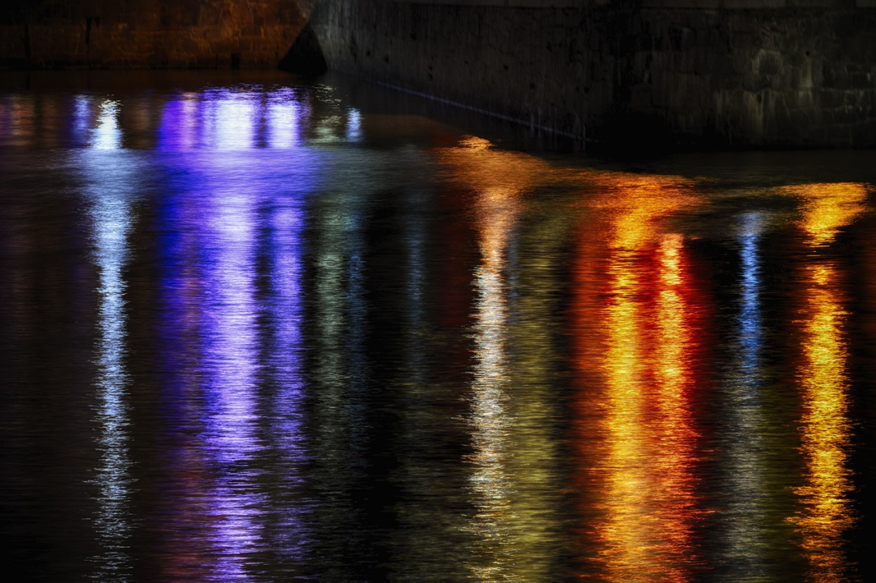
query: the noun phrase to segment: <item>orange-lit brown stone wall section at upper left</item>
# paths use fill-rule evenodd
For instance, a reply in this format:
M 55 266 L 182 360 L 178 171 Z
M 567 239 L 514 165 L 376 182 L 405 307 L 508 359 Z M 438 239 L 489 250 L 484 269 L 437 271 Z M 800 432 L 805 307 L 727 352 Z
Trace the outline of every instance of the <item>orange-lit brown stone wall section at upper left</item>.
M 293 0 L 0 0 L 0 67 L 277 67 Z

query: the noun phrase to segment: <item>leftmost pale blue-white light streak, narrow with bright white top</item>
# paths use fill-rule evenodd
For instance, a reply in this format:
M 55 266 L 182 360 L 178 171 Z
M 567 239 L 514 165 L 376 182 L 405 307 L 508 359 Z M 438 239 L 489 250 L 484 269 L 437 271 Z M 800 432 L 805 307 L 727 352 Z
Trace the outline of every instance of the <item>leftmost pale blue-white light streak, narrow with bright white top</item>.
M 131 454 L 129 452 L 130 384 L 125 370 L 125 300 L 127 284 L 124 266 L 129 257 L 131 233 L 131 190 L 136 185 L 136 167 L 124 152 L 118 130 L 118 102 L 100 105 L 92 149 L 80 162 L 88 181 L 88 214 L 91 218 L 94 257 L 98 271 L 97 378 L 98 404 L 95 424 L 99 428 L 97 448 L 101 465 L 95 471 L 98 488 L 95 530 L 102 552 L 94 579 L 131 579 Z

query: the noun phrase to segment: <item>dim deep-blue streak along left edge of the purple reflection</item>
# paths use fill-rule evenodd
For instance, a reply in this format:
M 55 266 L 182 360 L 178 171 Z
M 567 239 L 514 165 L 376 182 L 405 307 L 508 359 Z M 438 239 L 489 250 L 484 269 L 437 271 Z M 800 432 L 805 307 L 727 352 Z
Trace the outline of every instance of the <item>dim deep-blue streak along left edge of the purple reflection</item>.
M 167 119 L 167 118 L 165 118 Z M 167 131 L 173 131 L 172 127 Z M 208 485 L 210 460 L 199 431 L 203 419 L 201 326 L 203 278 L 202 199 L 192 192 L 168 194 L 159 210 L 158 321 L 161 362 L 166 372 L 159 393 L 164 404 L 161 438 L 161 507 L 152 525 L 159 531 L 159 580 L 204 580 L 210 570 Z

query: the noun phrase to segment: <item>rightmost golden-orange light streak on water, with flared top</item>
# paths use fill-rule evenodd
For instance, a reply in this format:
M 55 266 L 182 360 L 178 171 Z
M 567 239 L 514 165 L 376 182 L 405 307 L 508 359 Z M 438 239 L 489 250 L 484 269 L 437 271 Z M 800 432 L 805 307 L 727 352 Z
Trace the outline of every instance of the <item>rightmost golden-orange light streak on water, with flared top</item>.
M 830 245 L 839 229 L 864 210 L 867 193 L 857 184 L 795 186 L 786 192 L 802 198 L 801 226 L 814 248 Z M 800 431 L 806 474 L 803 485 L 795 488 L 802 509 L 792 520 L 809 559 L 807 579 L 827 583 L 847 580 L 844 532 L 856 520 L 849 500 L 849 355 L 844 338 L 848 313 L 841 295 L 844 274 L 835 260 L 817 257 L 802 271 L 802 363 L 797 379 L 803 390 Z

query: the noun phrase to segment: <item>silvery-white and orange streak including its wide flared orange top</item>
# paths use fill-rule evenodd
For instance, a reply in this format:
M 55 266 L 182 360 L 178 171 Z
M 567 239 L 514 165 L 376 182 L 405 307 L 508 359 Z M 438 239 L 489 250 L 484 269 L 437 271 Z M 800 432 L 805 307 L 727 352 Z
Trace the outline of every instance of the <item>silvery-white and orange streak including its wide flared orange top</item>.
M 518 158 L 514 161 L 522 161 Z M 474 380 L 470 416 L 472 453 L 467 460 L 471 504 L 476 509 L 469 524 L 474 548 L 467 560 L 472 577 L 479 581 L 515 580 L 517 544 L 512 531 L 513 476 L 508 463 L 512 450 L 514 418 L 509 409 L 509 362 L 506 277 L 512 265 L 509 245 L 514 242 L 524 180 L 503 175 L 512 159 L 492 151 L 486 140 L 470 138 L 462 147 L 442 151 L 442 160 L 454 178 L 475 189 L 475 223 L 480 263 L 474 272 Z

